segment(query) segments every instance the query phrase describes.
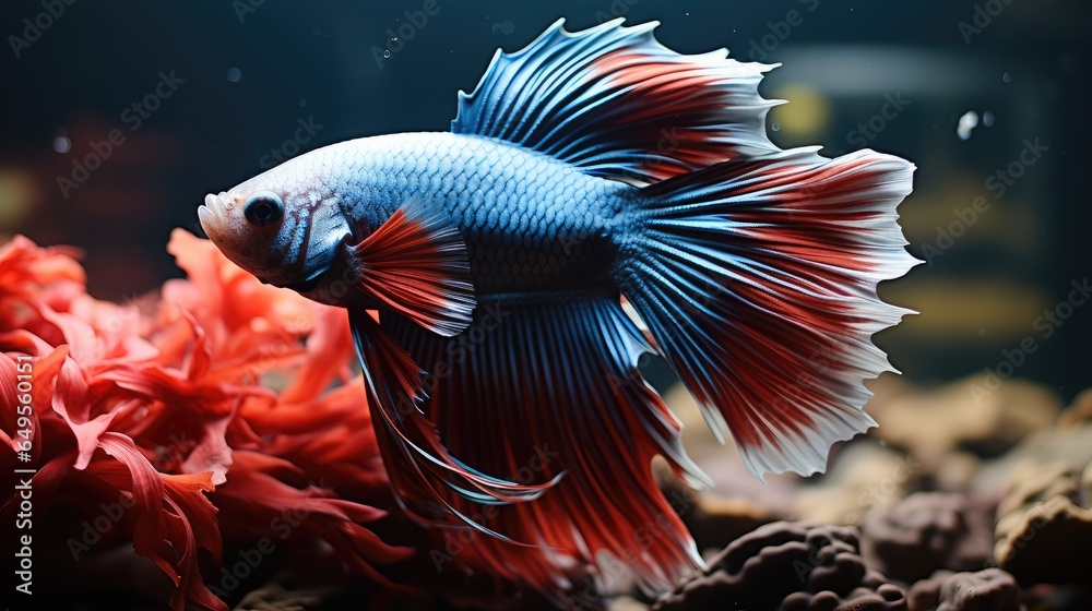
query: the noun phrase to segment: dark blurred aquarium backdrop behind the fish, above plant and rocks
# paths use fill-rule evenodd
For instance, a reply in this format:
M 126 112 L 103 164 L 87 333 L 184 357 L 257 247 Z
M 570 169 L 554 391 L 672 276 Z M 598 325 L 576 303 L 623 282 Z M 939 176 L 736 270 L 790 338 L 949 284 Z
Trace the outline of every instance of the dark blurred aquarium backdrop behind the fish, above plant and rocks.
M 497 47 L 559 16 L 660 20 L 685 52 L 783 62 L 783 146 L 911 158 L 901 207 L 925 264 L 882 287 L 921 311 L 878 343 L 906 380 L 1089 383 L 1083 180 L 1092 5 L 1082 0 L 15 1 L 0 97 L 0 236 L 84 249 L 91 291 L 177 276 L 203 195 L 355 136 L 444 130 Z M 662 380 L 668 380 L 661 376 Z M 970 391 L 973 392 L 973 391 Z

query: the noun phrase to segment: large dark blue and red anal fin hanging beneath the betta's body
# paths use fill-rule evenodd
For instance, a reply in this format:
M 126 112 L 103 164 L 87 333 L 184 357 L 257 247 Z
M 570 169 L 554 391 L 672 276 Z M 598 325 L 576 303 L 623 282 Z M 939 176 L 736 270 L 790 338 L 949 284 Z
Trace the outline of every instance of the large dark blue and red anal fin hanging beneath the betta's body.
M 693 542 L 660 492 L 657 455 L 691 483 L 707 480 L 682 451 L 680 424 L 637 368 L 650 351 L 607 290 L 482 297 L 474 323 L 444 339 L 405 319 L 383 319 L 431 373 L 425 417 L 473 469 L 541 496 L 494 505 L 450 487 L 438 506 L 486 531 L 455 560 L 541 591 L 559 591 L 573 561 L 607 552 L 648 588 L 663 590 L 700 565 Z M 395 482 L 397 486 L 397 482 Z M 417 490 L 396 490 L 408 504 Z

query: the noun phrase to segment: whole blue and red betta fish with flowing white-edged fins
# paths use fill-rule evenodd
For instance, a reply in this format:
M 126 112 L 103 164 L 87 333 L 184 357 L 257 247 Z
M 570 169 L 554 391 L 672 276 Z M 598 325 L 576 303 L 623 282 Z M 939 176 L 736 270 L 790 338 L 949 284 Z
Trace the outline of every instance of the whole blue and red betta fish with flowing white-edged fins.
M 603 553 L 652 591 L 702 564 L 650 463 L 709 479 L 642 357 L 755 477 L 821 471 L 876 426 L 871 335 L 910 312 L 877 284 L 918 263 L 913 165 L 782 149 L 775 65 L 620 22 L 498 50 L 450 132 L 331 144 L 198 208 L 239 266 L 347 310 L 399 506 L 542 591 Z

